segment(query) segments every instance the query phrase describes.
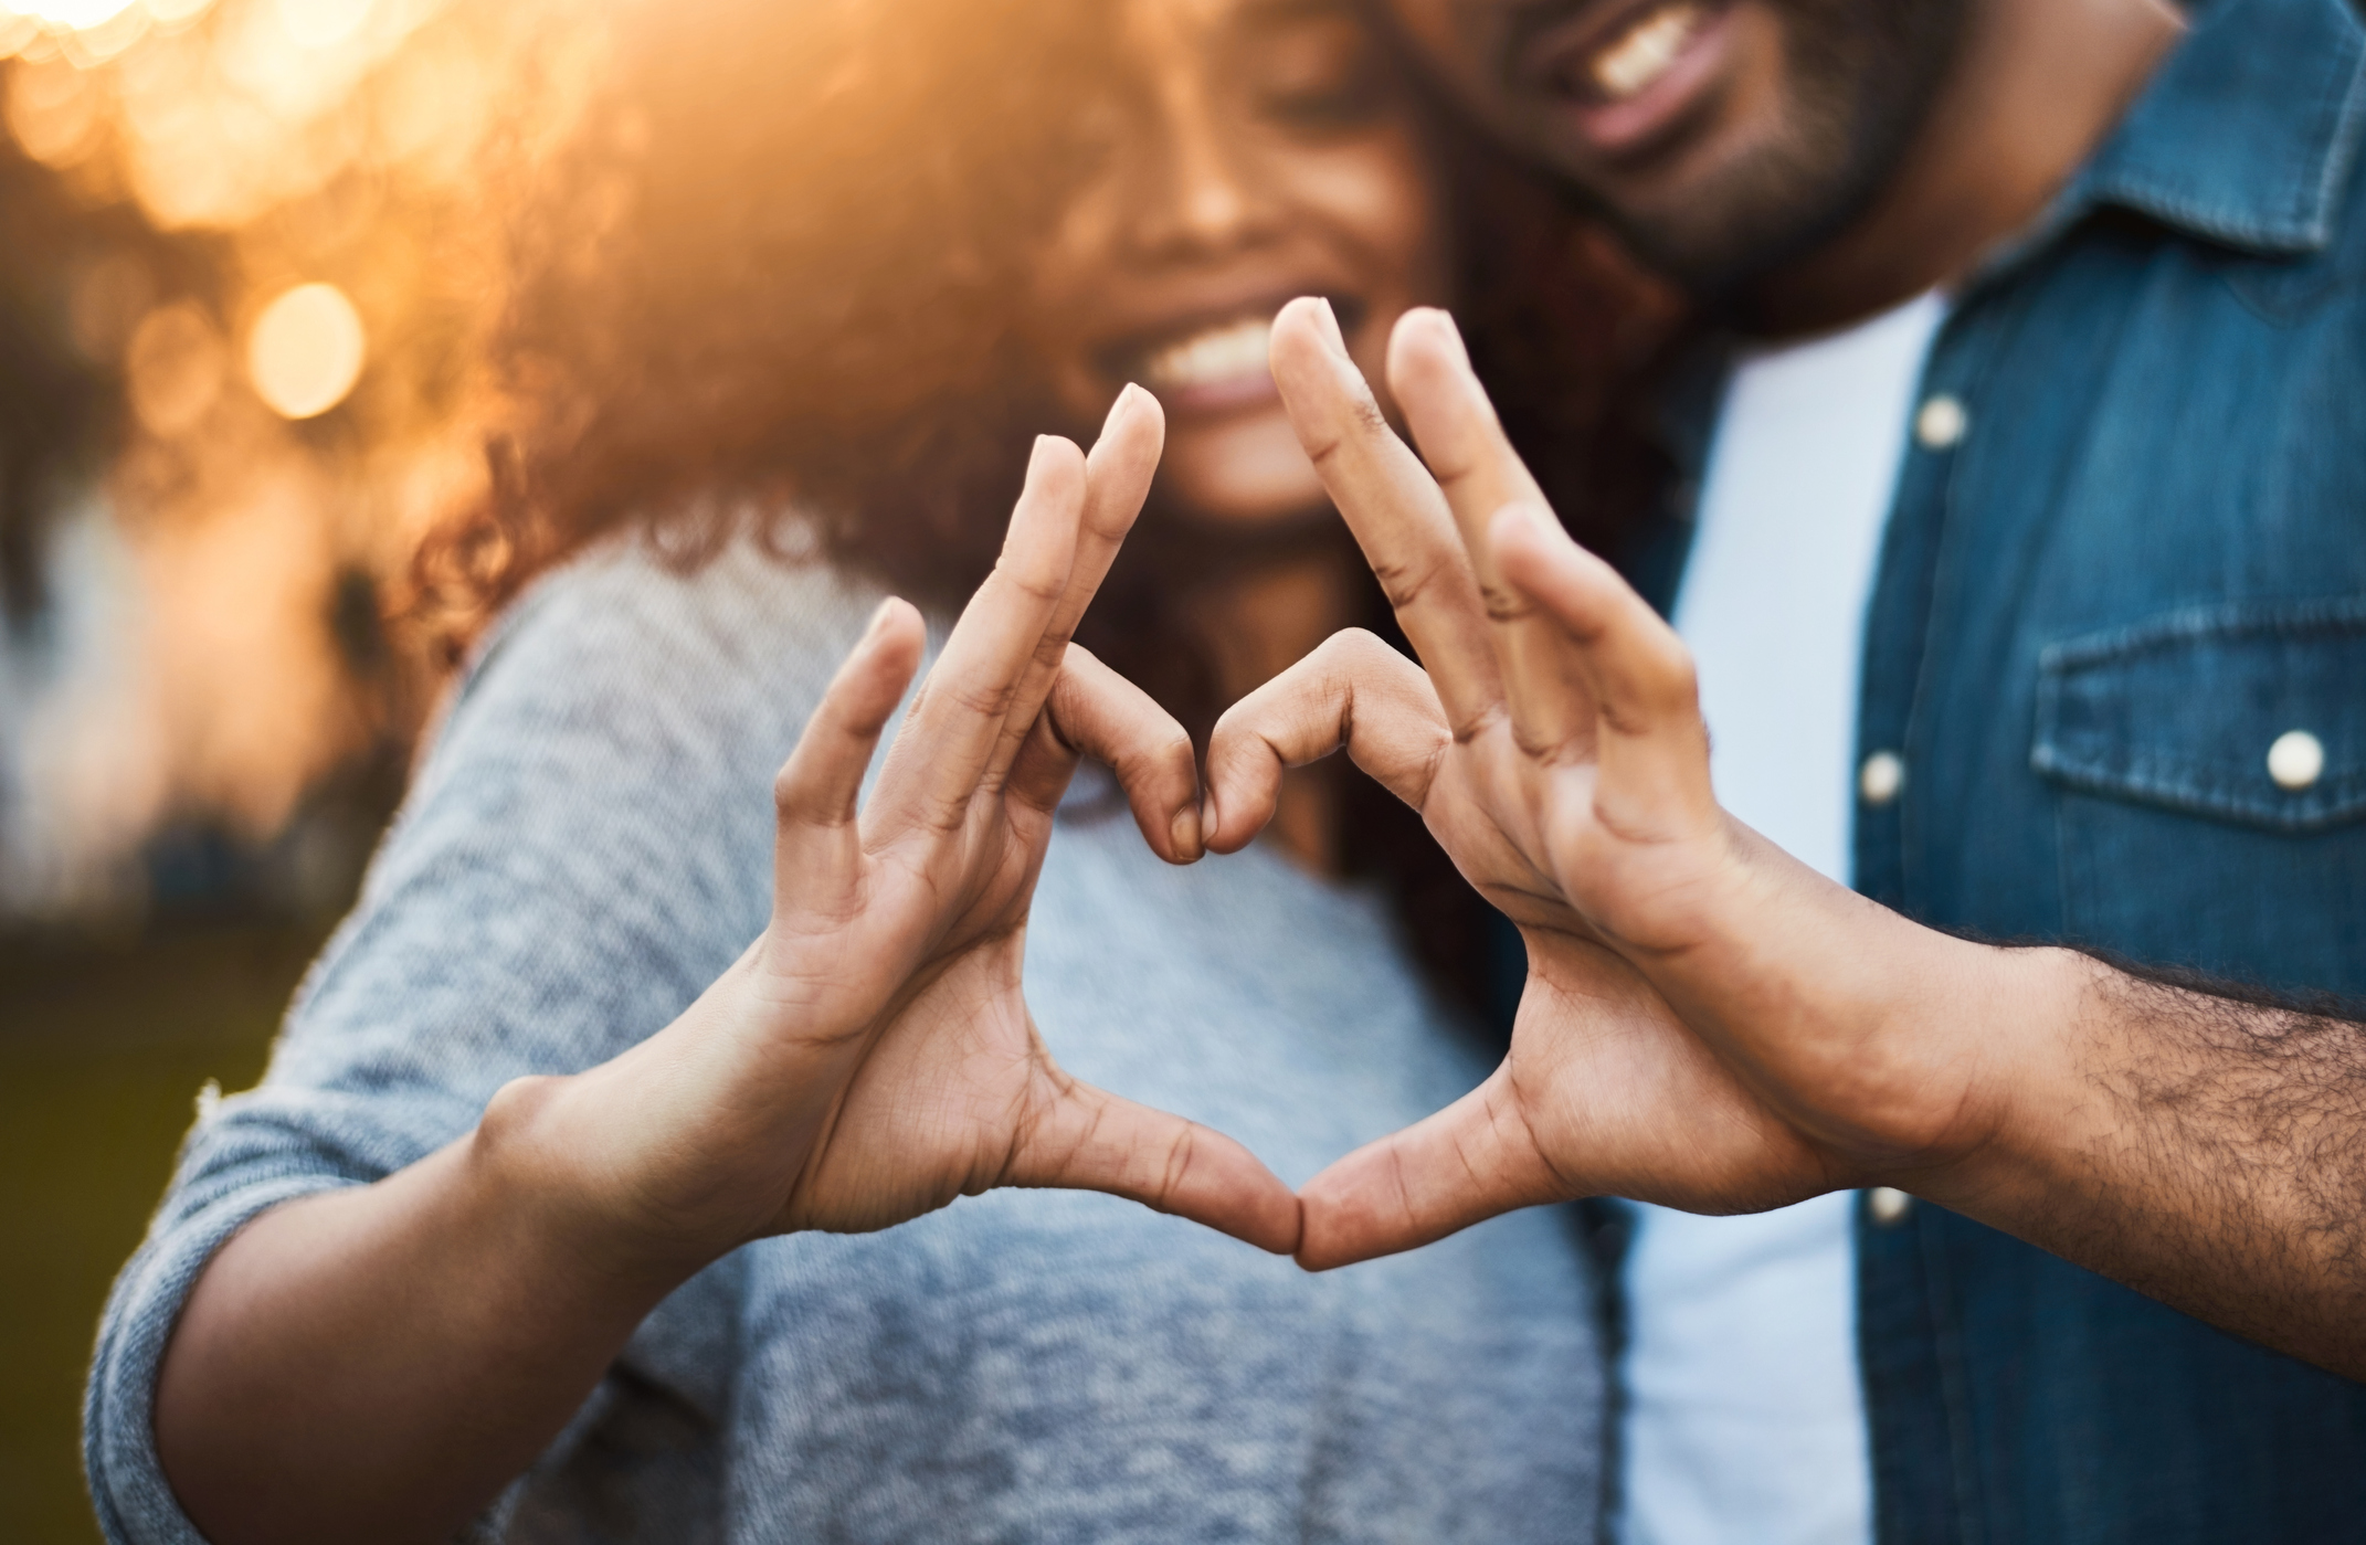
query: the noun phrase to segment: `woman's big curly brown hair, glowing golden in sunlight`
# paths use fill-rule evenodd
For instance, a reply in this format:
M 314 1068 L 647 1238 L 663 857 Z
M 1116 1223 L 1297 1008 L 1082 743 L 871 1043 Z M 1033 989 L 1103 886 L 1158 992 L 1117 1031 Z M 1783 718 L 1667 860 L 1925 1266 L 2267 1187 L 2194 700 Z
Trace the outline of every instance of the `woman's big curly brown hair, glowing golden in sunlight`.
M 1013 296 L 1121 125 L 1133 83 L 1112 12 L 625 7 L 580 128 L 494 185 L 506 407 L 483 497 L 419 551 L 431 625 L 459 646 L 620 530 L 684 565 L 745 532 L 819 537 L 838 563 L 958 603 L 994 561 L 1034 433 L 1091 431 L 1053 405 Z M 1670 308 L 1545 187 L 1431 116 L 1474 357 L 1564 521 L 1604 547 L 1649 476 L 1609 407 Z M 1204 733 L 1221 705 L 1171 606 L 1176 554 L 1152 504 L 1081 636 Z M 1372 620 L 1386 629 L 1377 589 Z M 1422 953 L 1467 980 L 1474 899 L 1420 823 L 1358 797 L 1349 828 L 1351 866 L 1389 875 Z

